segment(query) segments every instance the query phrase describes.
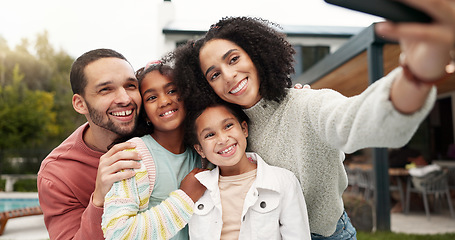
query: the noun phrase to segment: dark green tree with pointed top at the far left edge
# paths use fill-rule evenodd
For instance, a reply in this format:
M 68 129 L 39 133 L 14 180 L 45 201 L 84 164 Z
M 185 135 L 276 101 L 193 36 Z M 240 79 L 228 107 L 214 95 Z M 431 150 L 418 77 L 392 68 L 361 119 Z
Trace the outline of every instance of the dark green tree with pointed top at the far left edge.
M 19 66 L 13 69 L 12 83 L 0 86 L 0 151 L 39 146 L 49 135 L 57 134 L 56 114 L 52 111 L 54 94 L 30 90 L 22 84 Z M 5 161 L 3 161 L 5 163 Z M 3 164 L 2 164 L 3 165 Z M 6 167 L 3 165 L 3 167 Z

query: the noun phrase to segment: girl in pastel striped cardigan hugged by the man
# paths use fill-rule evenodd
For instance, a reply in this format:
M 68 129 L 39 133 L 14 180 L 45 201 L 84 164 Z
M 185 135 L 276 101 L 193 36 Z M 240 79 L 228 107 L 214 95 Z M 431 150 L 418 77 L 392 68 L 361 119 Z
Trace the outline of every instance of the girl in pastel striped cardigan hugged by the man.
M 136 72 L 142 108 L 135 131 L 116 142 L 136 145 L 141 168 L 106 194 L 106 239 L 188 239 L 194 202 L 205 191 L 195 178 L 201 159 L 185 145 L 186 110 L 172 68 L 156 61 Z M 187 176 L 188 175 L 188 176 Z

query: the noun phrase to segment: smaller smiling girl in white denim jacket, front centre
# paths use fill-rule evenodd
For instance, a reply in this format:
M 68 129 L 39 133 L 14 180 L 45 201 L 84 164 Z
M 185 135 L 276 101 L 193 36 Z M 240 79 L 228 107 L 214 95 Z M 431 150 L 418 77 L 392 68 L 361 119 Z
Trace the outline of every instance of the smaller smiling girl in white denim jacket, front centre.
M 190 239 L 310 239 L 300 183 L 245 152 L 247 119 L 240 107 L 216 103 L 185 120 L 190 143 L 217 165 L 196 175 L 207 191 L 194 205 Z

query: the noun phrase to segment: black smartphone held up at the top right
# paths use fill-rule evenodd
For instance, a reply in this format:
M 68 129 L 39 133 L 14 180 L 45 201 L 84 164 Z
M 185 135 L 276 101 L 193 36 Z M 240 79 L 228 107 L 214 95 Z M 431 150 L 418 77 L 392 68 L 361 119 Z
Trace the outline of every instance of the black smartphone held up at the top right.
M 324 0 L 340 7 L 383 17 L 393 22 L 429 23 L 426 13 L 395 0 Z

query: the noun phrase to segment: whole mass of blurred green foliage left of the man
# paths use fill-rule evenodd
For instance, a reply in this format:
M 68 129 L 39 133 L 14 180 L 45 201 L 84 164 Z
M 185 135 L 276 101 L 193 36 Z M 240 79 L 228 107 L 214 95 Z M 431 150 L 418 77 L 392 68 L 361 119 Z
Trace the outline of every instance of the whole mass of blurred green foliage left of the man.
M 36 173 L 44 156 L 85 121 L 71 103 L 73 61 L 52 47 L 47 32 L 14 50 L 0 36 L 0 173 Z M 8 162 L 13 158 L 25 161 L 17 166 Z

